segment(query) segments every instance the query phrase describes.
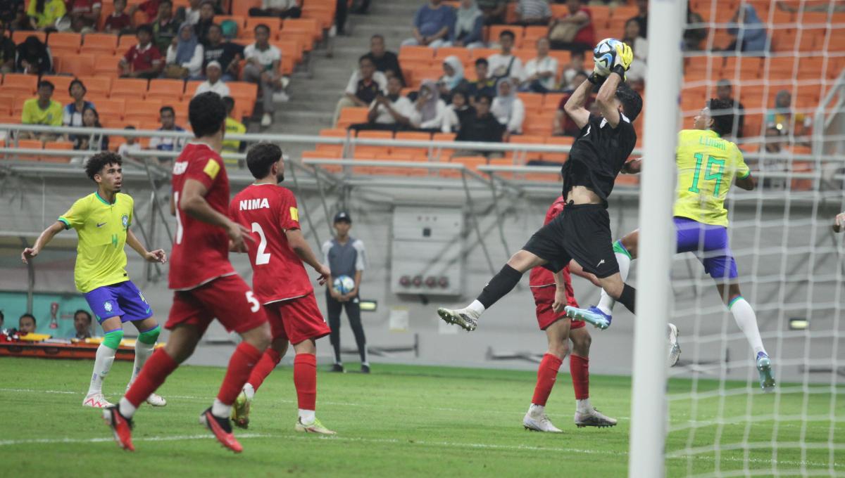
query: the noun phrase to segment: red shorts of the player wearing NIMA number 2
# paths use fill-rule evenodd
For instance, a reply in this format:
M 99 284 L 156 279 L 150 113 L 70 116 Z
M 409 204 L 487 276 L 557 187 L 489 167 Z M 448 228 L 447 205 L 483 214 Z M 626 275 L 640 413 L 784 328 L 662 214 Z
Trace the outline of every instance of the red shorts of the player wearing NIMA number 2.
M 264 312 L 270 320 L 273 340 L 282 337 L 298 344 L 328 336 L 331 332 L 317 307 L 313 292 L 303 297 L 265 303 Z

